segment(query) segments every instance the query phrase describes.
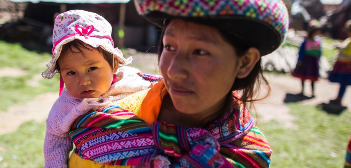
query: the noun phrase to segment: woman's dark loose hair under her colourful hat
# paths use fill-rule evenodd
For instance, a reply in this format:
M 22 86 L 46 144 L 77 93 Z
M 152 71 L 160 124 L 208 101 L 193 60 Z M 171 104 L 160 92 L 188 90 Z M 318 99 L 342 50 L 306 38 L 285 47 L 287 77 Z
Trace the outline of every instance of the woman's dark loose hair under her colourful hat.
M 160 35 L 160 40 L 159 40 L 159 45 L 158 45 L 158 63 L 160 61 L 161 53 L 162 53 L 163 48 L 164 48 L 162 40 L 163 40 L 163 36 L 164 36 L 164 33 L 165 33 L 165 30 L 166 30 L 168 23 L 170 23 L 170 20 L 166 20 L 164 22 L 164 27 L 163 27 L 162 33 Z M 251 47 L 249 45 L 243 44 L 243 42 L 241 42 L 241 41 L 238 41 L 237 38 L 233 37 L 233 35 L 230 35 L 230 33 L 226 33 L 224 31 L 220 31 L 220 30 L 219 30 L 219 32 L 221 33 L 222 38 L 225 41 L 227 41 L 228 43 L 230 43 L 235 48 L 236 55 L 239 57 L 245 55 L 247 50 Z M 238 46 L 240 46 L 240 47 L 238 47 Z M 256 93 L 259 93 L 261 83 L 266 84 L 267 94 L 265 96 L 263 96 L 263 98 L 255 98 L 258 96 L 258 95 L 256 95 Z M 253 67 L 253 69 L 251 70 L 249 75 L 247 75 L 245 78 L 242 78 L 242 79 L 236 78 L 234 83 L 233 83 L 233 86 L 232 86 L 232 92 L 236 91 L 236 92 L 241 93 L 241 98 L 237 98 L 237 99 L 242 101 L 244 104 L 247 102 L 259 101 L 259 100 L 266 98 L 269 95 L 270 90 L 271 90 L 271 88 L 269 86 L 269 83 L 266 80 L 266 78 L 263 76 L 263 71 L 261 68 L 261 59 L 258 60 L 258 62 Z M 228 96 L 227 96 L 228 101 L 227 102 L 232 101 L 232 92 L 228 93 Z M 225 105 L 225 106 L 227 106 L 227 105 Z M 224 108 L 226 108 L 226 107 L 224 107 Z M 225 113 L 225 110 L 221 110 L 221 112 Z M 219 116 L 222 116 L 223 113 L 216 114 L 216 115 L 217 115 L 217 117 L 219 117 Z

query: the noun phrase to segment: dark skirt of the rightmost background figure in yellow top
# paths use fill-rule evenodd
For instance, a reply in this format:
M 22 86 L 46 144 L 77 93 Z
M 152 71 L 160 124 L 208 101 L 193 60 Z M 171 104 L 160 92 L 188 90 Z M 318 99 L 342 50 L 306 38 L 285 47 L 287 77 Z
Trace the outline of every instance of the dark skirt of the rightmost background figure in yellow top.
M 337 61 L 329 75 L 331 82 L 339 82 L 346 85 L 351 85 L 351 61 Z

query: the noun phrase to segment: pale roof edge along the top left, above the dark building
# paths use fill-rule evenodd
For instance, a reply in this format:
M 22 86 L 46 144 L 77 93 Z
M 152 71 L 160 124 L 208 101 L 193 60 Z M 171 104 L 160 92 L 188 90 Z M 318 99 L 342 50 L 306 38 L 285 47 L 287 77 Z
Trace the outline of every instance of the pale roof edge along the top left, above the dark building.
M 55 3 L 64 3 L 64 4 L 118 4 L 118 3 L 127 3 L 130 0 L 10 0 L 13 2 L 55 2 Z

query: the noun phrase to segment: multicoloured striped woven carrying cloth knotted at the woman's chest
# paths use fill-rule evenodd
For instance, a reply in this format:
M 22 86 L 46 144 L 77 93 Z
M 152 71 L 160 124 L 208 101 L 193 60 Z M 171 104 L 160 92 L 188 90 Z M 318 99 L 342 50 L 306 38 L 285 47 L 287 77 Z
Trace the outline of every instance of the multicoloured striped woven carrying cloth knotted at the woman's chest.
M 234 100 L 230 109 L 204 129 L 148 126 L 129 110 L 104 107 L 80 116 L 69 136 L 78 156 L 107 165 L 149 164 L 161 155 L 171 167 L 269 167 L 272 151 L 246 107 Z

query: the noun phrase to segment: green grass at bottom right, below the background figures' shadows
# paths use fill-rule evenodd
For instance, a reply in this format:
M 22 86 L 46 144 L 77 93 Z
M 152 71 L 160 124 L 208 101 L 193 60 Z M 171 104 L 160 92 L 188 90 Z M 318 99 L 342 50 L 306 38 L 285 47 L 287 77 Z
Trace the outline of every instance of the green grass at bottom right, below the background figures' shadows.
M 321 109 L 288 103 L 298 129 L 277 121 L 260 126 L 273 150 L 272 168 L 340 168 L 351 136 L 351 113 L 327 114 Z M 336 154 L 336 155 L 335 155 Z

